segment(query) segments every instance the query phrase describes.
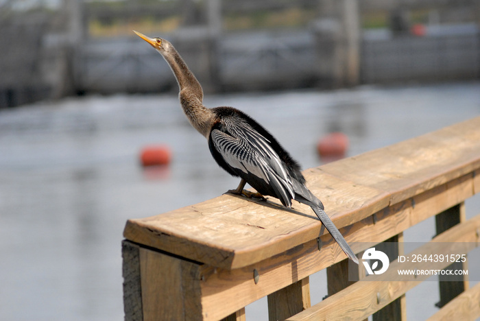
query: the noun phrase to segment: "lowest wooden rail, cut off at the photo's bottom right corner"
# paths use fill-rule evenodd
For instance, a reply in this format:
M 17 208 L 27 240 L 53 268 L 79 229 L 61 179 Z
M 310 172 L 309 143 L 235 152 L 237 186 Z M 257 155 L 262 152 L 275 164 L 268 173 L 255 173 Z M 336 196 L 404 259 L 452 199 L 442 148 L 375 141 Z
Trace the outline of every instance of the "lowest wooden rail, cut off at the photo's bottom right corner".
M 431 316 L 429 321 L 440 320 L 478 320 L 480 318 L 480 283 L 463 292 L 440 311 Z

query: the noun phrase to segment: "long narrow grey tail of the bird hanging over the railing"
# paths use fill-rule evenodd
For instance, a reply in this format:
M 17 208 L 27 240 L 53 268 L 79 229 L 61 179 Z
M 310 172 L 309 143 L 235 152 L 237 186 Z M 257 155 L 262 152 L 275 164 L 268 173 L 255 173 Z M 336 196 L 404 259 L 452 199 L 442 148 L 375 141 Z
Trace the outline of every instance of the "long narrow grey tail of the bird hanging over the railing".
M 298 184 L 298 185 L 300 185 L 300 184 Z M 352 261 L 354 261 L 355 263 L 358 264 L 359 259 L 357 258 L 355 253 L 352 251 L 352 249 L 348 245 L 347 241 L 344 239 L 344 236 L 341 235 L 337 226 L 335 226 L 335 224 L 333 224 L 330 217 L 328 217 L 328 215 L 326 215 L 322 202 L 320 202 L 320 200 L 318 198 L 316 198 L 315 195 L 313 195 L 311 193 L 311 191 L 309 191 L 309 189 L 307 189 L 307 187 L 304 187 L 304 186 L 300 187 L 299 186 L 297 188 L 297 186 L 296 186 L 295 189 L 296 189 L 296 198 L 295 199 L 298 200 L 298 202 L 300 202 L 300 203 L 304 203 L 304 204 L 309 205 L 311 207 L 311 209 L 313 209 L 313 211 L 317 215 L 318 219 L 320 219 L 320 222 L 322 222 L 322 224 L 324 224 L 326 230 L 328 230 L 328 233 L 330 233 L 332 235 L 333 239 L 335 239 L 335 241 L 338 243 L 340 248 L 342 250 L 344 250 L 347 257 L 350 260 L 352 260 Z

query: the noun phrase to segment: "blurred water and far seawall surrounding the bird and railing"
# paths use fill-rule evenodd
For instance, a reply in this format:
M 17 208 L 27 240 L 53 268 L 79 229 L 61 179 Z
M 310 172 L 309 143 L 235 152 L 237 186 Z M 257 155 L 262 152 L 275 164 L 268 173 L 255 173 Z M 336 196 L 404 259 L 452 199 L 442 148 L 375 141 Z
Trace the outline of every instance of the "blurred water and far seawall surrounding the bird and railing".
M 333 132 L 341 158 L 480 115 L 479 23 L 475 0 L 0 0 L 0 320 L 123 319 L 125 221 L 238 184 L 132 29 L 170 40 L 206 106 L 244 110 L 308 168 L 332 160 L 317 145 Z M 158 145 L 167 164 L 143 167 Z M 408 292 L 409 320 L 438 300 L 434 282 Z M 266 300 L 247 318 L 267 320 Z

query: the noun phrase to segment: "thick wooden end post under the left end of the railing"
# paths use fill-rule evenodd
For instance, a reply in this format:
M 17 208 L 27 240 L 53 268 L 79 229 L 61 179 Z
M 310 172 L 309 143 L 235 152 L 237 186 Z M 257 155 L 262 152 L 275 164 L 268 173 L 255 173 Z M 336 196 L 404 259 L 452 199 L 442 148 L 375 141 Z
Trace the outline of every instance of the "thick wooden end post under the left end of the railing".
M 202 265 L 123 241 L 125 320 L 197 320 Z

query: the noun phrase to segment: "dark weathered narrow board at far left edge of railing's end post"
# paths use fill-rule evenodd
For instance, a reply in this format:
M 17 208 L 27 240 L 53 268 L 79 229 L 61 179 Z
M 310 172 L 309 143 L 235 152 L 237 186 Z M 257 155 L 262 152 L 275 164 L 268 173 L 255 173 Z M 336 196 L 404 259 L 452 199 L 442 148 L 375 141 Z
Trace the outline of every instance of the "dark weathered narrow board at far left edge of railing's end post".
M 143 321 L 139 246 L 123 240 L 121 256 L 123 259 L 123 311 L 125 312 L 125 320 Z

